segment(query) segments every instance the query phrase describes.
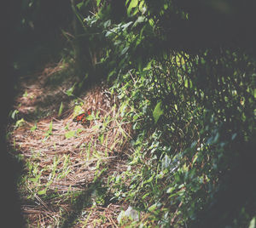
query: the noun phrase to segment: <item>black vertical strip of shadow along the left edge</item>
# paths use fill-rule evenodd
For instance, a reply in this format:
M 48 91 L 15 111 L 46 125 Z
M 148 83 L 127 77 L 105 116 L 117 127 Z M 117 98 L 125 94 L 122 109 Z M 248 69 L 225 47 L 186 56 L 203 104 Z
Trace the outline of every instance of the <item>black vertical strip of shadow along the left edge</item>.
M 8 2 L 0 9 L 0 197 L 1 224 L 8 227 L 25 227 L 25 220 L 21 215 L 20 198 L 17 191 L 17 180 L 20 176 L 21 164 L 15 157 L 9 154 L 7 146 L 8 135 L 6 132 L 9 111 L 15 96 L 14 84 L 16 76 L 12 64 L 16 43 L 18 42 L 18 38 L 15 36 L 15 25 L 19 21 L 19 4 L 15 1 Z

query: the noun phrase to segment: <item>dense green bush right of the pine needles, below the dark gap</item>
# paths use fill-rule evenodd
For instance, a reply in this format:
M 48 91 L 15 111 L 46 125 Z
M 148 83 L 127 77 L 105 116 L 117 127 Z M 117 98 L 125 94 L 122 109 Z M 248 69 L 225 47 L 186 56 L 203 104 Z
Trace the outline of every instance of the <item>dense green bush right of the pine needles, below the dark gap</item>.
M 253 194 L 240 200 L 254 170 L 254 63 L 230 51 L 209 55 L 172 54 L 118 79 L 127 117 L 144 118 L 134 125 L 131 165 L 140 168 L 128 172 L 128 198 L 145 211 L 155 205 L 160 224 L 177 216 L 173 205 L 180 205 L 182 223 L 195 227 L 241 227 L 254 210 L 247 207 Z

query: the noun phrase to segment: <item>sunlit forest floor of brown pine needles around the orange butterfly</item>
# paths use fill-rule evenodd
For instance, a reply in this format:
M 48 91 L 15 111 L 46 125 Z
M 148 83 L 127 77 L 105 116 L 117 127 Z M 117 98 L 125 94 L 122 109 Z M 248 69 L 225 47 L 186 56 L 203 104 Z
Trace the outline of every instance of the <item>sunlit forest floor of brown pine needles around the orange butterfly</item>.
M 114 197 L 110 179 L 127 169 L 131 126 L 103 83 L 73 96 L 70 69 L 60 61 L 20 78 L 9 145 L 24 163 L 22 213 L 28 227 L 117 227 L 129 205 Z M 84 124 L 73 122 L 88 109 Z

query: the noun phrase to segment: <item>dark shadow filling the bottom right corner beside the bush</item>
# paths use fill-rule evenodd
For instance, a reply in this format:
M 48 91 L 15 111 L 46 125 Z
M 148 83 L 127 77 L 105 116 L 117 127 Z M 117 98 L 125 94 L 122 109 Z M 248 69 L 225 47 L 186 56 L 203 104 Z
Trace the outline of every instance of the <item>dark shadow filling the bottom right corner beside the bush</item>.
M 236 150 L 242 152 L 233 162 L 233 168 L 230 168 L 224 180 L 221 180 L 212 202 L 197 214 L 198 218 L 193 220 L 189 227 L 248 227 L 249 220 L 244 222 L 242 216 L 246 213 L 251 218 L 255 216 L 255 146 L 255 141 L 238 140 L 232 151 L 234 154 Z

